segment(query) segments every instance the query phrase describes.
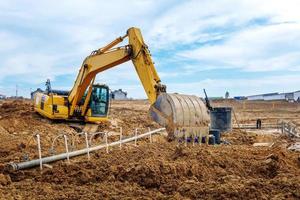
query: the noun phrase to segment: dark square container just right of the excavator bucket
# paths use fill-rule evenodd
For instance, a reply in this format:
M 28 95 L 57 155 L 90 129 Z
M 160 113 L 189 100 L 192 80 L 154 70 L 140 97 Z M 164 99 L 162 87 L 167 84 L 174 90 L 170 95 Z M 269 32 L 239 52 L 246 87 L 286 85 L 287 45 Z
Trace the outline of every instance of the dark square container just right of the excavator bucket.
M 210 128 L 220 132 L 231 130 L 231 107 L 216 107 L 210 112 Z

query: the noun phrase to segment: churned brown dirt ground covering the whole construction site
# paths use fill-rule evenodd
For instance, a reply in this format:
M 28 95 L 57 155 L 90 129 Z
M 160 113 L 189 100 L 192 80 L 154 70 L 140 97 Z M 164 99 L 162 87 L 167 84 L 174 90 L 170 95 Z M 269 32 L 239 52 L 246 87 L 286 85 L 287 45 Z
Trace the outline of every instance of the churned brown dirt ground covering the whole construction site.
M 219 100 L 213 106 L 234 108 L 240 124 L 276 124 L 280 119 L 300 123 L 300 104 L 288 102 L 250 102 Z M 146 132 L 159 128 L 148 117 L 147 101 L 113 101 L 110 141 L 118 139 L 118 127 L 124 135 L 135 128 Z M 162 135 L 123 144 L 39 167 L 11 171 L 10 162 L 22 162 L 24 155 L 37 159 L 33 135 L 41 136 L 42 154 L 50 155 L 53 138 L 75 135 L 76 130 L 62 122 L 51 122 L 33 111 L 31 101 L 0 101 L 0 197 L 1 199 L 299 199 L 300 153 L 287 147 L 295 139 L 280 129 L 233 129 L 222 134 L 230 144 L 178 145 Z M 99 137 L 93 144 L 103 142 Z M 257 142 L 271 147 L 254 147 Z M 83 138 L 76 139 L 83 148 Z M 58 140 L 56 153 L 64 152 Z

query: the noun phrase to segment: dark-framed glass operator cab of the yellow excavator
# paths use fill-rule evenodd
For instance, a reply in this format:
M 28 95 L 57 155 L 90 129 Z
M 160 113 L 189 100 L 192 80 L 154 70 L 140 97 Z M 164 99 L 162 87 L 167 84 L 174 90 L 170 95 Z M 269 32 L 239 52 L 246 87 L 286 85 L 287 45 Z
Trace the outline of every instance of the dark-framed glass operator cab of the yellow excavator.
M 109 90 L 107 86 L 94 85 L 90 99 L 92 117 L 107 116 L 109 106 Z

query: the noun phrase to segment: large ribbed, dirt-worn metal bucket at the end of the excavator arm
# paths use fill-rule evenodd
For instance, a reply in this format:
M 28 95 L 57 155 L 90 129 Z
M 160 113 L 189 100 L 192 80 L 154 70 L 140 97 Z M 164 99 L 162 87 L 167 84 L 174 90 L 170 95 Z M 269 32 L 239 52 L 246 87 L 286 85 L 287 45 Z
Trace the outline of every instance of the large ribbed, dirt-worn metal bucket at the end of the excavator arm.
M 207 108 L 194 95 L 162 93 L 150 107 L 150 115 L 155 122 L 167 128 L 170 139 L 208 134 Z

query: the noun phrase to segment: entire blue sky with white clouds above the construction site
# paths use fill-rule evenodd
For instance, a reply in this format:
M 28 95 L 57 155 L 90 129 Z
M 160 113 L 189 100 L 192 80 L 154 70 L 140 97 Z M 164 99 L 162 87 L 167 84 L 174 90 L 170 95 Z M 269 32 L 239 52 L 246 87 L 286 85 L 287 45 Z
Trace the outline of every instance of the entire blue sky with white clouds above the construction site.
M 300 90 L 299 0 L 0 0 L 0 94 L 72 88 L 82 61 L 141 29 L 168 92 Z M 127 41 L 123 42 L 125 45 Z M 146 98 L 131 61 L 96 82 Z

